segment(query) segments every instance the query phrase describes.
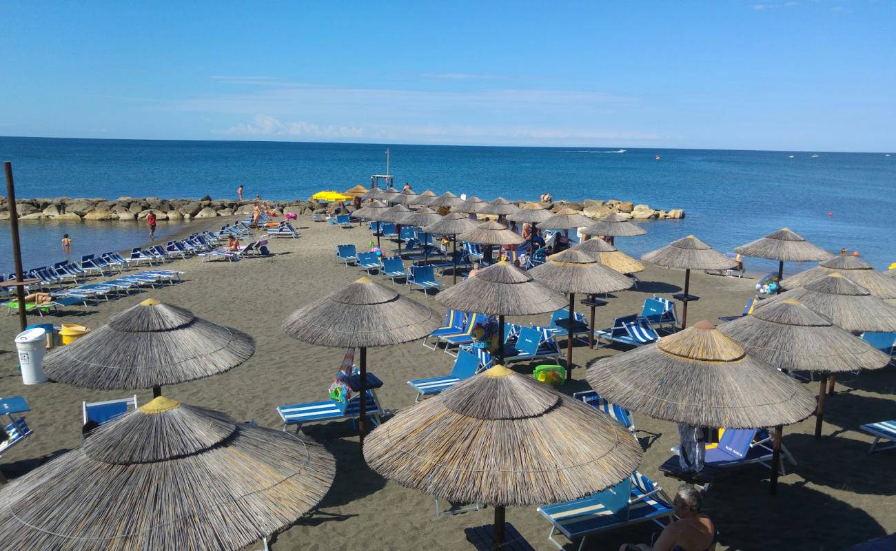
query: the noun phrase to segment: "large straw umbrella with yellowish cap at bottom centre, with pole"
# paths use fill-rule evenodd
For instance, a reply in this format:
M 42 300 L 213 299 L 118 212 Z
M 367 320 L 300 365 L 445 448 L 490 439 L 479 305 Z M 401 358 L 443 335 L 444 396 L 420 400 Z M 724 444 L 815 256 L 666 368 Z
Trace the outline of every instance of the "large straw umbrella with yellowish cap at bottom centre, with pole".
M 631 476 L 641 455 L 623 426 L 500 365 L 401 410 L 364 449 L 371 469 L 401 486 L 495 505 L 497 548 L 504 507 L 599 492 Z

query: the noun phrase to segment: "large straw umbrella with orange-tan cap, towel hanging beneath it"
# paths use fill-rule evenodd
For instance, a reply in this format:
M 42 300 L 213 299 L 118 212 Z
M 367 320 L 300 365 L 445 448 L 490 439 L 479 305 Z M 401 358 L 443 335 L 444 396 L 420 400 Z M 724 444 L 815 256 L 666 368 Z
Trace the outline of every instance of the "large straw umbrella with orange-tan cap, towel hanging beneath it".
M 620 406 L 691 426 L 774 426 L 771 494 L 778 488 L 784 425 L 812 415 L 815 400 L 709 322 L 654 344 L 589 362 L 588 382 Z

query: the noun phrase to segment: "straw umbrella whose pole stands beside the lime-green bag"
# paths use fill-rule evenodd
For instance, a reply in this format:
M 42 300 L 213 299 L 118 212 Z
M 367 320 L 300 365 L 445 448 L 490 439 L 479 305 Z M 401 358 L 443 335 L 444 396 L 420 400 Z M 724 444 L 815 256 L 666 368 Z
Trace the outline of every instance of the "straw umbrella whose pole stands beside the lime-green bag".
M 569 295 L 569 327 L 566 334 L 566 380 L 573 378 L 573 322 L 575 321 L 575 294 L 612 293 L 624 288 L 631 288 L 632 280 L 621 273 L 610 270 L 582 251 L 567 249 L 561 253 L 551 254 L 547 261 L 529 273 L 547 287 L 558 293 Z M 594 319 L 591 319 L 594 327 Z

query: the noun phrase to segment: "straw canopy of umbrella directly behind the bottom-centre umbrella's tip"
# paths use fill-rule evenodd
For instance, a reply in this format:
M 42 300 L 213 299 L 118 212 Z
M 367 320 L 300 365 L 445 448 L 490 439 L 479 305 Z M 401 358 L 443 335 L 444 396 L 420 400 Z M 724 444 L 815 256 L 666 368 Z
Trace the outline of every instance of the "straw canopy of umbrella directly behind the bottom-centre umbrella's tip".
M 511 263 L 495 263 L 435 296 L 435 302 L 462 312 L 534 315 L 554 312 L 566 298 Z

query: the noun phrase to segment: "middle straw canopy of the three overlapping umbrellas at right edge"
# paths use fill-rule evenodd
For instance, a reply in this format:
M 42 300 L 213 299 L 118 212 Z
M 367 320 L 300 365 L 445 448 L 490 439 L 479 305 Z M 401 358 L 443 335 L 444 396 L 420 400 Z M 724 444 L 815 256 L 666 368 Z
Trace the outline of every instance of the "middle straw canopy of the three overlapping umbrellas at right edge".
M 788 298 L 798 300 L 847 331 L 896 331 L 896 307 L 874 297 L 840 272 L 762 300 L 756 304 L 754 313 Z

